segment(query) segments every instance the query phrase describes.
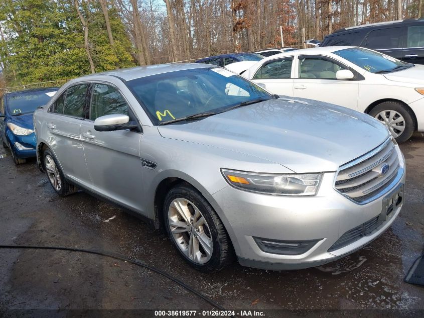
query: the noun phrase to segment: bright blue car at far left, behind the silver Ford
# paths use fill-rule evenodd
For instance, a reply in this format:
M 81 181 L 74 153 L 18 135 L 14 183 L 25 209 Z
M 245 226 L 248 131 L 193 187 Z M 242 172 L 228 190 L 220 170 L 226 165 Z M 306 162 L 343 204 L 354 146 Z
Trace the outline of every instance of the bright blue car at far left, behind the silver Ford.
M 58 87 L 28 89 L 0 97 L 0 139 L 9 147 L 15 164 L 36 156 L 33 113 L 45 105 Z

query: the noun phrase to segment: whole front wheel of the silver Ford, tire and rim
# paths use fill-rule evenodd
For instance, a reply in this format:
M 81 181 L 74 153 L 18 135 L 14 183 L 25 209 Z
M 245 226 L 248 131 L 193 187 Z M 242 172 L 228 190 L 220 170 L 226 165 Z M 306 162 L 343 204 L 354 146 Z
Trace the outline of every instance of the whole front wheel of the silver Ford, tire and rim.
M 209 202 L 191 185 L 181 183 L 168 192 L 163 217 L 171 242 L 195 269 L 217 271 L 233 261 L 233 247 L 224 225 Z M 199 226 L 195 227 L 196 223 Z

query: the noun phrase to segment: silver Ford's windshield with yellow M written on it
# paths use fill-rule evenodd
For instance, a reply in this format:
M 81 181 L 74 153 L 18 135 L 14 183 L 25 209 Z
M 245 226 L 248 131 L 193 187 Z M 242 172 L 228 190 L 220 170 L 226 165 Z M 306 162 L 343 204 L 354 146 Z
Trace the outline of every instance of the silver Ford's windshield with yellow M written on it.
M 220 67 L 196 68 L 126 82 L 155 125 L 202 113 L 220 113 L 269 93 Z

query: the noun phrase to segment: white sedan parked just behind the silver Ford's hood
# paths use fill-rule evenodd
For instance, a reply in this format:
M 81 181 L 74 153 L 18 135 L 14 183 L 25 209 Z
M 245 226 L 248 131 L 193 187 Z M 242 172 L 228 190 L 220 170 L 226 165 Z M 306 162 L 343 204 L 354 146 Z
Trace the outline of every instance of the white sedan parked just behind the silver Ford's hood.
M 383 122 L 398 142 L 415 130 L 424 132 L 422 65 L 364 48 L 333 46 L 272 55 L 242 71 L 242 76 L 274 94 L 369 114 Z

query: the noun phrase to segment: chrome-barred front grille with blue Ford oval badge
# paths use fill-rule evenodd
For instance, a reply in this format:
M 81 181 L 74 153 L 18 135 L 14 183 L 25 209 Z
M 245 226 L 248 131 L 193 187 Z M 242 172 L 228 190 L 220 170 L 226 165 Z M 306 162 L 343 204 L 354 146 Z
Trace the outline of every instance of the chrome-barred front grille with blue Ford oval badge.
M 382 173 L 385 165 L 389 169 Z M 387 139 L 369 153 L 340 167 L 334 186 L 353 201 L 364 203 L 396 179 L 398 170 L 397 151 L 391 139 Z

